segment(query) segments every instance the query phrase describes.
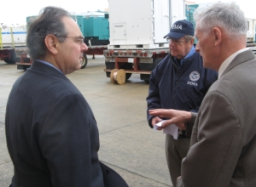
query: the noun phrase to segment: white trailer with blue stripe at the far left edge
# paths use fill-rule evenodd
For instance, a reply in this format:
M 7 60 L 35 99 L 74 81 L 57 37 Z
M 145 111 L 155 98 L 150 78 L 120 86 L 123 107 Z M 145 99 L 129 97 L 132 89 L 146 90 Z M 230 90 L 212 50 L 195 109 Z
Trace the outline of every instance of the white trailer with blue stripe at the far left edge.
M 0 59 L 15 64 L 15 48 L 26 46 L 26 26 L 0 27 Z

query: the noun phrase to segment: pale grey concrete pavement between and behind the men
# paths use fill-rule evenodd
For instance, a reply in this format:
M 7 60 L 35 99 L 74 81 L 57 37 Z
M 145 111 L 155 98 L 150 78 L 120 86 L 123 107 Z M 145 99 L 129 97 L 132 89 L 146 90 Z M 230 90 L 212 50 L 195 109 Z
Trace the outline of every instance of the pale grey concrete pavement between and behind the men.
M 67 77 L 90 104 L 100 133 L 99 158 L 131 187 L 172 186 L 165 156 L 165 135 L 148 127 L 148 84 L 138 74 L 123 85 L 106 77 L 104 57 L 88 56 L 85 69 Z M 25 71 L 0 60 L 0 187 L 8 187 L 13 164 L 5 139 L 5 109 L 10 89 Z

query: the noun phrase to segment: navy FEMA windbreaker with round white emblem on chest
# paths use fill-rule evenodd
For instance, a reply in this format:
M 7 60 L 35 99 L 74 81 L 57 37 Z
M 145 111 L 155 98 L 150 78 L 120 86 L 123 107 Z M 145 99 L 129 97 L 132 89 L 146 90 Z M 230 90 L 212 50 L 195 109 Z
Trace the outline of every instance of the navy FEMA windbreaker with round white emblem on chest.
M 183 59 L 180 70 L 169 54 L 151 73 L 147 97 L 148 110 L 162 108 L 198 112 L 208 88 L 217 78 L 217 71 L 203 67 L 199 53 L 195 52 L 189 58 Z M 148 114 L 148 110 L 148 124 L 152 127 L 153 116 Z M 190 136 L 190 132 L 186 135 Z

